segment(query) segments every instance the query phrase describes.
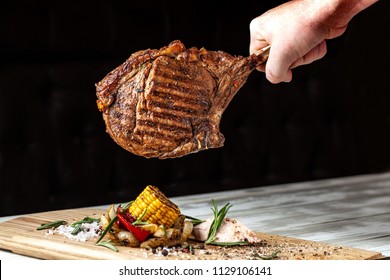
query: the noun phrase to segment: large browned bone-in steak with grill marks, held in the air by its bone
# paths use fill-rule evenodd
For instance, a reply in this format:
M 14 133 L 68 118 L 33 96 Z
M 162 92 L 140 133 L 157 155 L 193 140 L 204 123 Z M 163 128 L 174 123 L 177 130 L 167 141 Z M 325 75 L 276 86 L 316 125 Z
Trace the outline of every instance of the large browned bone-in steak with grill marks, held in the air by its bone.
M 223 146 L 222 113 L 267 55 L 232 56 L 178 40 L 132 54 L 96 84 L 107 132 L 146 158 Z

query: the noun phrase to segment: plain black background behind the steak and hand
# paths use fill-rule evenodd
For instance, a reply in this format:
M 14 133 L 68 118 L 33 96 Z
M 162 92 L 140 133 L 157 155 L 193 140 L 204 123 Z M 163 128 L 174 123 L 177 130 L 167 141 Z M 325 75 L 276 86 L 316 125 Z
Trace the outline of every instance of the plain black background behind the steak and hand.
M 129 201 L 148 184 L 178 196 L 389 170 L 388 1 L 291 83 L 251 74 L 223 148 L 145 159 L 105 132 L 95 83 L 133 52 L 180 39 L 246 56 L 251 19 L 283 2 L 3 1 L 0 216 Z

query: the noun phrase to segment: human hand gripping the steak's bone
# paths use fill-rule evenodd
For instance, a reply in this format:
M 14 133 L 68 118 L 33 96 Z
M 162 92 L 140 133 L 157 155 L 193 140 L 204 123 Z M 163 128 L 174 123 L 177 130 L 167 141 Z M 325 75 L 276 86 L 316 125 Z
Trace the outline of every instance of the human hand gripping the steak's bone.
M 250 53 L 271 45 L 267 63 L 258 70 L 271 83 L 290 82 L 291 69 L 321 59 L 326 54 L 325 40 L 343 34 L 351 18 L 374 2 L 295 0 L 253 19 Z

